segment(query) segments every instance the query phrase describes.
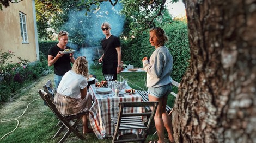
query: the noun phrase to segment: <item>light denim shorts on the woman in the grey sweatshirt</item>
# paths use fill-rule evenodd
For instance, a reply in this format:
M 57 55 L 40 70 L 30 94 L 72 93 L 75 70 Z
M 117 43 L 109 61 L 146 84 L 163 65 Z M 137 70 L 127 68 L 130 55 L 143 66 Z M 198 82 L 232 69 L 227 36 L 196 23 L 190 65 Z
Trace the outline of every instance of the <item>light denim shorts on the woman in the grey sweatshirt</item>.
M 156 98 L 167 97 L 172 92 L 172 85 L 165 85 L 156 88 L 148 88 L 148 93 Z

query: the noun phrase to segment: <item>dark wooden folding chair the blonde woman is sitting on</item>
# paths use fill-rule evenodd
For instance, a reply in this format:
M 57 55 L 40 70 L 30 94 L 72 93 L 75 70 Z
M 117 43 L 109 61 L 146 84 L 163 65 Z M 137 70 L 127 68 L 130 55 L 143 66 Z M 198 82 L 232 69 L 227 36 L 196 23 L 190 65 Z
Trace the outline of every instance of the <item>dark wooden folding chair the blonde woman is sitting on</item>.
M 78 125 L 78 122 L 82 119 L 83 115 L 88 115 L 89 111 L 83 111 L 78 113 L 77 115 L 70 115 L 70 116 L 64 116 L 60 114 L 56 106 L 54 105 L 53 101 L 50 99 L 51 95 L 44 92 L 42 89 L 38 91 L 42 99 L 46 102 L 48 107 L 52 110 L 52 112 L 59 118 L 59 120 L 62 122 L 62 126 L 59 128 L 58 132 L 54 135 L 53 138 L 56 138 L 60 135 L 60 133 L 63 131 L 63 129 L 66 127 L 68 131 L 64 134 L 62 139 L 60 139 L 59 142 L 64 142 L 66 138 L 68 138 L 69 134 L 73 132 L 77 137 L 84 140 L 86 138 L 83 137 L 80 133 L 76 131 L 76 127 Z

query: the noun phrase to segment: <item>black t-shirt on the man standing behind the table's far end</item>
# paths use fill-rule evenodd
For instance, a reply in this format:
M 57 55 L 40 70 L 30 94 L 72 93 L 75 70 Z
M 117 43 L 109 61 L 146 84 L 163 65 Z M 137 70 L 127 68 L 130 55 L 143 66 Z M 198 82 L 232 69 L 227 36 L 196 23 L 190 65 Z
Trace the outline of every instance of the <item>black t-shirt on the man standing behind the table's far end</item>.
M 117 64 L 117 50 L 115 48 L 120 47 L 120 40 L 118 37 L 111 35 L 108 39 L 103 38 L 101 41 L 104 51 L 104 64 Z

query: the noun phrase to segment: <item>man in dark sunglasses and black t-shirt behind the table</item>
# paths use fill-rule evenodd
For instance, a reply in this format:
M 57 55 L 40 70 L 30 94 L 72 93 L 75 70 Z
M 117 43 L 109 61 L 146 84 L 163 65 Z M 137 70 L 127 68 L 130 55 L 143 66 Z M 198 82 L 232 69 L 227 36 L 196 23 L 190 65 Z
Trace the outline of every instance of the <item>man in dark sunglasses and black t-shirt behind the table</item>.
M 106 35 L 101 41 L 103 48 L 103 55 L 100 57 L 99 62 L 103 61 L 102 73 L 113 74 L 113 81 L 117 80 L 117 74 L 121 72 L 121 46 L 118 37 L 111 34 L 111 25 L 104 22 L 101 25 L 103 34 Z

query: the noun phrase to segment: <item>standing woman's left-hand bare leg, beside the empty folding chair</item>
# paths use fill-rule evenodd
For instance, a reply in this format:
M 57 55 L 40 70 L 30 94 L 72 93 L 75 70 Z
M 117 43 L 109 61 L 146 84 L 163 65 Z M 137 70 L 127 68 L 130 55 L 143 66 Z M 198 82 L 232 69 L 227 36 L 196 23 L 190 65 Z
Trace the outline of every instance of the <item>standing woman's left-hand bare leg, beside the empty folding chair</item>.
M 163 123 L 163 119 L 162 119 L 162 113 L 163 113 L 162 100 L 163 100 L 163 98 L 155 98 L 154 96 L 151 96 L 149 94 L 149 101 L 158 101 L 159 102 L 157 109 L 156 109 L 156 114 L 154 117 L 156 131 L 157 131 L 157 135 L 159 137 L 159 140 L 157 141 L 158 143 L 164 142 L 164 123 Z M 165 111 L 165 108 L 164 108 L 164 111 Z

